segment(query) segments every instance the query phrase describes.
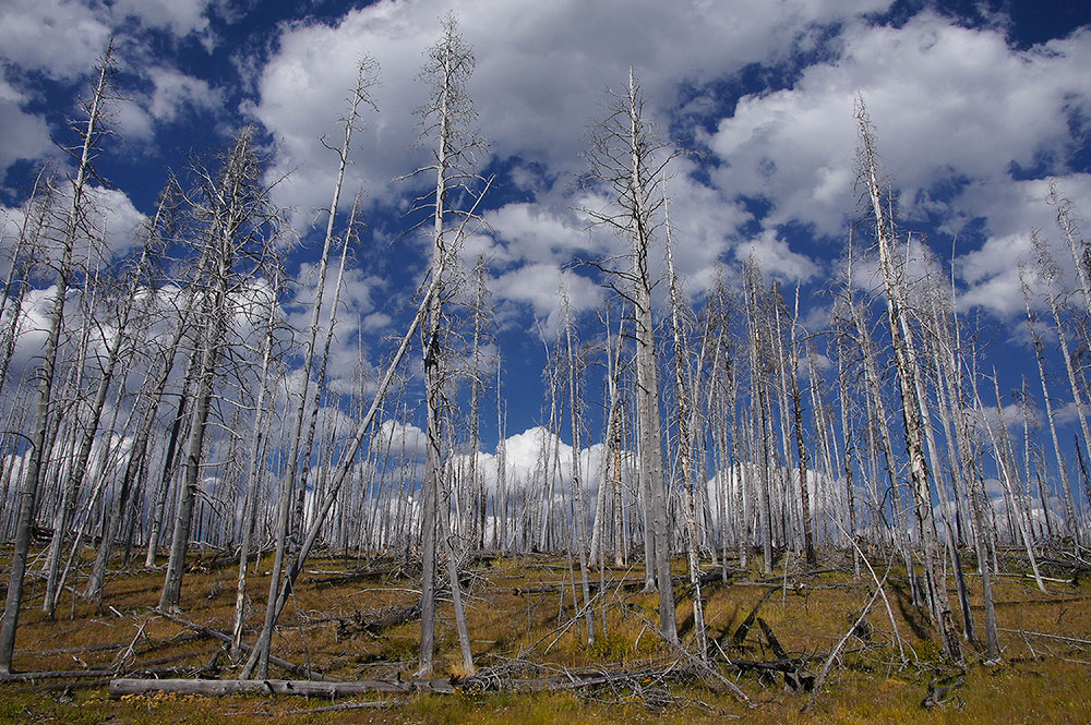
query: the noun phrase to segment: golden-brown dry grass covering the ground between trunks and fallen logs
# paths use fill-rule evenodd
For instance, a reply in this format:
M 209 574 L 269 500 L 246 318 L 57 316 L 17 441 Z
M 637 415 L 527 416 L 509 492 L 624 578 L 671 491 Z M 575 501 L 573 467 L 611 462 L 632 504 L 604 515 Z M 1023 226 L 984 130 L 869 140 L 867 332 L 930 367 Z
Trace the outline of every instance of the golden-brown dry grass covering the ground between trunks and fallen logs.
M 207 564 L 213 557 L 202 557 Z M 248 626 L 254 628 L 262 616 L 268 587 L 264 572 L 269 558 L 256 567 L 250 590 L 257 606 L 251 607 Z M 0 561 L 0 566 L 4 563 Z M 790 568 L 794 566 L 789 561 Z M 968 570 L 969 570 L 969 564 Z M 316 579 L 333 572 L 356 569 L 355 559 L 326 558 L 309 563 L 299 582 L 296 601 L 285 612 L 274 654 L 303 664 L 310 662 L 338 679 L 408 676 L 417 658 L 419 621 L 392 627 L 376 635 L 339 632 L 335 617 L 355 612 L 379 612 L 410 605 L 418 599 L 411 570 L 394 561 L 377 564 L 365 577 L 344 578 L 329 583 Z M 228 630 L 233 612 L 233 567 L 207 569 L 196 564 L 185 575 L 181 607 L 184 616 L 204 625 Z M 682 569 L 679 569 L 679 573 Z M 543 558 L 494 559 L 469 570 L 467 588 L 469 633 L 479 667 L 509 667 L 514 658 L 541 666 L 590 667 L 609 665 L 635 668 L 648 662 L 672 660 L 670 651 L 655 635 L 658 621 L 656 597 L 638 590 L 608 587 L 607 635 L 602 635 L 602 609 L 596 608 L 597 640 L 588 647 L 577 625 L 572 624 L 572 590 L 550 589 L 570 581 L 563 560 Z M 608 569 L 609 580 L 642 581 L 643 569 Z M 104 614 L 93 603 L 67 594 L 56 620 L 39 612 L 43 584 L 28 587 L 29 602 L 22 615 L 16 643 L 15 667 L 20 670 L 108 668 L 119 653 L 134 641 L 128 666 L 158 668 L 164 676 L 187 676 L 206 667 L 220 649 L 218 642 L 195 636 L 184 626 L 155 615 L 161 570 L 132 570 L 115 576 L 107 584 Z M 598 579 L 596 572 L 595 579 Z M 757 579 L 757 575 L 750 577 Z M 791 655 L 822 656 L 841 638 L 870 596 L 866 582 L 846 573 L 826 573 L 806 580 L 790 578 L 788 583 L 750 585 L 746 578 L 731 585 L 706 589 L 710 635 L 730 635 L 755 604 L 774 589 L 759 616 Z M 79 581 L 76 582 L 80 583 Z M 971 579 L 971 587 L 980 582 Z M 517 593 L 516 589 L 547 589 Z M 996 585 L 1000 627 L 1052 632 L 1091 639 L 1091 585 L 1051 583 L 1043 595 L 1028 579 L 1005 577 Z M 680 589 L 680 592 L 682 590 Z M 887 594 L 897 631 L 903 638 L 908 665 L 897 662 L 894 629 L 882 602 L 868 615 L 871 644 L 853 639 L 842 653 L 823 688 L 814 710 L 801 714 L 807 696 L 784 691 L 783 681 L 763 680 L 753 675 L 738 681 L 756 703 L 747 709 L 728 696 L 716 694 L 699 684 L 673 682 L 669 688 L 656 682 L 638 692 L 632 690 L 589 691 L 584 694 L 492 693 L 482 697 L 429 696 L 392 709 L 360 709 L 322 714 L 289 714 L 304 708 L 326 705 L 297 699 L 140 697 L 110 700 L 105 688 L 33 690 L 9 684 L 0 689 L 0 723 L 461 723 L 480 722 L 516 725 L 523 723 L 589 722 L 722 722 L 724 715 L 752 723 L 1080 723 L 1091 713 L 1091 652 L 1060 641 L 1005 633 L 1004 664 L 987 667 L 980 653 L 967 645 L 971 667 L 966 685 L 948 704 L 924 710 L 921 701 L 938 647 L 930 639 L 920 614 L 909 602 L 903 572 L 895 571 Z M 974 593 L 980 599 L 980 593 Z M 980 605 L 980 602 L 975 599 Z M 115 612 L 116 611 L 116 612 Z M 436 663 L 439 675 L 460 676 L 460 657 L 449 604 L 441 607 L 437 626 Z M 690 636 L 690 601 L 680 597 L 679 620 L 683 637 Z M 975 609 L 981 619 L 981 609 Z M 980 626 L 980 621 L 979 621 Z M 137 631 L 143 627 L 140 637 Z M 732 656 L 750 660 L 772 658 L 774 654 L 755 625 L 741 650 Z M 812 672 L 822 665 L 812 663 Z M 204 676 L 230 677 L 226 654 L 218 669 Z M 284 673 L 271 673 L 281 677 Z M 734 676 L 734 675 L 732 675 Z M 39 684 L 35 684 L 39 685 Z M 670 698 L 670 704 L 662 706 Z M 381 699 L 376 697 L 375 699 Z M 225 717 L 224 713 L 231 713 Z

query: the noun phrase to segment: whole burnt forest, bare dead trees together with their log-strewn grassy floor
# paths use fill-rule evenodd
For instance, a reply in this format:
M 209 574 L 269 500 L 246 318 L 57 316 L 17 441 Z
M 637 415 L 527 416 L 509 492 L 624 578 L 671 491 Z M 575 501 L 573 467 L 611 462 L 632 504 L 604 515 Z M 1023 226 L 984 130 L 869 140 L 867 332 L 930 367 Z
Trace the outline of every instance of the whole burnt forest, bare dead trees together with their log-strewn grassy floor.
M 960 304 L 945 242 L 903 225 L 863 96 L 838 274 L 801 292 L 751 257 L 691 295 L 690 152 L 631 69 L 573 180 L 615 252 L 572 264 L 608 302 L 558 289 L 562 318 L 526 330 L 540 424 L 509 435 L 473 252 L 504 180 L 453 15 L 404 120 L 427 271 L 351 372 L 331 351 L 367 205 L 345 179 L 377 62 L 323 140 L 293 278 L 254 126 L 105 228 L 118 52 L 0 250 L 0 718 L 1086 717 L 1091 244 L 1062 185 L 1055 227 L 1027 230 L 1022 360 Z

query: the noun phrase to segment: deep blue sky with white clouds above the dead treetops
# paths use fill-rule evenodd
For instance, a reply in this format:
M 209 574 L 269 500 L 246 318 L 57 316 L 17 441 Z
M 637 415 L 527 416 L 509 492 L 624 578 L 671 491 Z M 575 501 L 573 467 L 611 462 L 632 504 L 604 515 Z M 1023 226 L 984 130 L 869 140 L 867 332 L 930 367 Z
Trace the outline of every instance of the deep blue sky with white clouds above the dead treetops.
M 469 89 L 497 173 L 482 207 L 489 226 L 467 254 L 491 259 L 511 433 L 540 422 L 538 328 L 554 334 L 559 288 L 588 326 L 608 299 L 601 280 L 571 262 L 624 244 L 585 228 L 586 192 L 574 182 L 586 170 L 588 129 L 630 65 L 663 135 L 697 152 L 670 182 L 675 262 L 696 302 L 718 262 L 753 254 L 786 286 L 802 286 L 805 318 L 824 317 L 828 297 L 817 292 L 838 270 L 856 209 L 858 95 L 903 225 L 948 261 L 957 239 L 960 304 L 997 325 L 1000 342 L 1020 319 L 1016 263 L 1030 251 L 1030 229 L 1056 237 L 1048 180 L 1080 218 L 1091 214 L 1084 2 L 3 0 L 4 223 L 37 167 L 59 162 L 51 138 L 71 137 L 64 121 L 112 35 L 125 100 L 98 166 L 111 183 L 103 203 L 115 253 L 152 212 L 168 169 L 183 171 L 256 123 L 275 149 L 269 173 L 288 174 L 275 201 L 293 210 L 302 243 L 289 270 L 305 279 L 324 227 L 316 209 L 336 170 L 320 138 L 338 136 L 356 62 L 368 53 L 382 67 L 380 111 L 363 118 L 341 209 L 363 189 L 368 227 L 333 370 L 350 370 L 361 325 L 377 364 L 424 269 L 422 242 L 400 235 L 417 182 L 394 179 L 424 159 L 412 147 L 413 109 L 427 97 L 416 76 L 448 8 L 477 55 Z M 1008 387 L 1020 372 L 1005 372 Z

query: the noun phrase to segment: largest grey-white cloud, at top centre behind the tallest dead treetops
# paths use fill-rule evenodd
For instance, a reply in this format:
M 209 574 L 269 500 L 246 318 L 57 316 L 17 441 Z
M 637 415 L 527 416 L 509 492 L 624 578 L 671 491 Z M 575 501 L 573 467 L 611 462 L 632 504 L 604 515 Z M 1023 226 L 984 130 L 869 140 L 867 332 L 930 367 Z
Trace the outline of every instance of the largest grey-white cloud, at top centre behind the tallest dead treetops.
M 492 153 L 566 174 L 584 168 L 585 131 L 602 116 L 606 88 L 623 85 L 631 64 L 640 71 L 649 98 L 668 107 L 683 81 L 699 85 L 750 62 L 783 59 L 815 23 L 888 4 L 746 0 L 676 7 L 644 0 L 589 7 L 575 0 L 472 0 L 459 3 L 458 13 L 477 56 L 469 90 Z M 335 26 L 284 28 L 278 52 L 262 72 L 253 112 L 281 142 L 281 168 L 301 167 L 283 190 L 298 208 L 325 203 L 333 161 L 317 140 L 338 135 L 334 119 L 344 113 L 343 99 L 362 52 L 383 68 L 383 85 L 375 93 L 381 112 L 365 119 L 370 129 L 359 137 L 350 188 L 367 180 L 379 189 L 415 168 L 406 153 L 418 135 L 410 119 L 428 93 L 416 75 L 446 10 L 440 0 L 383 0 L 348 12 Z M 525 173 L 517 183 L 531 185 Z

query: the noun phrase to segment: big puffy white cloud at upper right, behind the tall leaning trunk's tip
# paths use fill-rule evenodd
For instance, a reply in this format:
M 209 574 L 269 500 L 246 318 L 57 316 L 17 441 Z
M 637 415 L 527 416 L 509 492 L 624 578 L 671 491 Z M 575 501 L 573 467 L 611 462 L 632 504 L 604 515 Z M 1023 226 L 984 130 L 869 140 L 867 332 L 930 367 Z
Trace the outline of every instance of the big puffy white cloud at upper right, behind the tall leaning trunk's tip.
M 798 220 L 840 234 L 856 201 L 860 94 L 903 210 L 938 218 L 952 234 L 984 220 L 992 239 L 960 259 L 967 281 L 981 286 L 966 301 L 1012 311 L 1012 255 L 1050 214 L 1044 183 L 1015 181 L 1012 169 L 1065 169 L 1069 116 L 1091 110 L 1091 32 L 1017 51 L 995 29 L 926 12 L 901 28 L 850 24 L 840 43 L 835 61 L 808 68 L 792 88 L 743 98 L 720 122 L 708 138 L 724 161 L 715 181 L 729 196 L 769 200 L 767 227 Z M 1074 181 L 1070 193 L 1089 198 Z

